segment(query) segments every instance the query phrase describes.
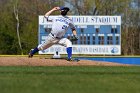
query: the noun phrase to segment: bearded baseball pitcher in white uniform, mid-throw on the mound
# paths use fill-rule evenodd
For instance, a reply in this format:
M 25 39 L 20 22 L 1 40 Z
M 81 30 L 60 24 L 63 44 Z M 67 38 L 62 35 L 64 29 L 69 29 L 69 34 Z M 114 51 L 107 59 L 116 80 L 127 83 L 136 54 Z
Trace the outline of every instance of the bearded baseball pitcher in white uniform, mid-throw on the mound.
M 36 48 L 30 51 L 28 55 L 29 58 L 33 57 L 33 55 L 40 50 L 45 50 L 54 44 L 60 44 L 66 47 L 66 51 L 68 54 L 67 60 L 71 61 L 72 42 L 67 38 L 63 38 L 63 36 L 65 35 L 66 31 L 70 27 L 73 33 L 73 37 L 71 38 L 71 40 L 77 41 L 78 38 L 77 38 L 77 33 L 76 33 L 75 26 L 72 20 L 66 16 L 69 10 L 70 9 L 68 7 L 54 7 L 53 9 L 51 9 L 49 12 L 45 14 L 44 17 L 46 18 L 46 20 L 52 21 L 52 30 L 48 34 L 43 44 L 38 45 Z M 60 11 L 61 15 L 54 18 L 50 18 L 49 17 L 50 14 L 54 11 Z

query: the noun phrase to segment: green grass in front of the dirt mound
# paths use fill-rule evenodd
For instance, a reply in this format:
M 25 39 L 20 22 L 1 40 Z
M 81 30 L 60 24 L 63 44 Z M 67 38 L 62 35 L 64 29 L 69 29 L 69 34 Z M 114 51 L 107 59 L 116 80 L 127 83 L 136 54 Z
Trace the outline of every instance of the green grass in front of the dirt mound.
M 0 67 L 0 93 L 139 93 L 140 67 Z

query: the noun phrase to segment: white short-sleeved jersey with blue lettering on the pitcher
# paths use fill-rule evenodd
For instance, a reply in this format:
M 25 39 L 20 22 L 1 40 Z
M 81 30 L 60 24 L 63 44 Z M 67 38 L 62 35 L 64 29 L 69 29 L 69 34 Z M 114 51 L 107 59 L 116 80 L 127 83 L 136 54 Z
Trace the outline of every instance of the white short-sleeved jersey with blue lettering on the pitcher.
M 63 37 L 70 27 L 71 29 L 75 29 L 75 26 L 72 20 L 67 16 L 56 16 L 56 17 L 48 17 L 49 21 L 52 21 L 52 31 L 56 37 Z

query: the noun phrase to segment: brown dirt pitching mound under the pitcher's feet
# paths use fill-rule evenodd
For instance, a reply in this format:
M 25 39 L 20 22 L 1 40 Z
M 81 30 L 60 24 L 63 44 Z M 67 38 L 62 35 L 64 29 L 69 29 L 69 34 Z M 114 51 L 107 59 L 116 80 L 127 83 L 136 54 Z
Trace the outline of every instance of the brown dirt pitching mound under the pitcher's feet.
M 80 60 L 69 62 L 64 59 L 45 59 L 40 57 L 0 57 L 0 66 L 128 66 L 126 64 Z

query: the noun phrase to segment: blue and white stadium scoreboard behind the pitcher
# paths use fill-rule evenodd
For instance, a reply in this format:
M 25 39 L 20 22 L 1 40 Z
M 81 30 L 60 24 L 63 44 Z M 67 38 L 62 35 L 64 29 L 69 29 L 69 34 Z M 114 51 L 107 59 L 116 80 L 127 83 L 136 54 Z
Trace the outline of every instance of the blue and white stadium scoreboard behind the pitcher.
M 55 16 L 50 16 L 55 17 Z M 121 17 L 120 16 L 69 16 L 76 26 L 79 40 L 73 42 L 73 54 L 120 55 L 121 54 Z M 51 22 L 39 16 L 38 41 L 45 41 L 51 31 Z M 65 37 L 69 38 L 69 31 Z M 39 54 L 66 54 L 66 49 L 54 45 Z

